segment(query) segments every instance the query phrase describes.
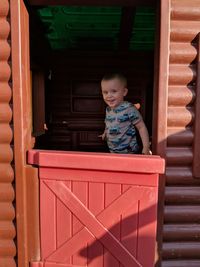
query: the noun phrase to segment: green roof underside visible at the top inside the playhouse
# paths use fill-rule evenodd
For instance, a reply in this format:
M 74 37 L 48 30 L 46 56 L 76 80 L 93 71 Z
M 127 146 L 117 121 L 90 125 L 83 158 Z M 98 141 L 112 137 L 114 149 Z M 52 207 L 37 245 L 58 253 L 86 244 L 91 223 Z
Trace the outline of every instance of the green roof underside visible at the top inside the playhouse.
M 52 50 L 117 50 L 121 7 L 52 6 L 38 9 Z M 130 50 L 153 50 L 155 10 L 137 8 Z

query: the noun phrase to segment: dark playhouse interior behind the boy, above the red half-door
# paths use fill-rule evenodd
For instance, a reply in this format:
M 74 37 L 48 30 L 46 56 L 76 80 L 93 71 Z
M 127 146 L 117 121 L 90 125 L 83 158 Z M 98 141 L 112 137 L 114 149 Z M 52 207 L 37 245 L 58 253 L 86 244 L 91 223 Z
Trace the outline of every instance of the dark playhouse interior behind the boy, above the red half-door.
M 35 148 L 106 152 L 100 80 L 122 72 L 152 135 L 155 7 L 29 6 Z M 44 123 L 48 130 L 44 129 Z

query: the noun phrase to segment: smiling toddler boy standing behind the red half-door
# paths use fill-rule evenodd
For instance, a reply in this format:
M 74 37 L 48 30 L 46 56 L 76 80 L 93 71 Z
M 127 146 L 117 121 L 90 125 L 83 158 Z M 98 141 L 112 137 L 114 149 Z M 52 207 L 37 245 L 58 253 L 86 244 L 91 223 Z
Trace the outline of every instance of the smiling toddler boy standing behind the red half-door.
M 124 101 L 128 93 L 127 80 L 119 73 L 105 75 L 101 81 L 106 108 L 105 131 L 100 136 L 107 141 L 112 153 L 138 154 L 136 129 L 142 140 L 142 154 L 151 154 L 149 135 L 141 114 L 133 104 Z

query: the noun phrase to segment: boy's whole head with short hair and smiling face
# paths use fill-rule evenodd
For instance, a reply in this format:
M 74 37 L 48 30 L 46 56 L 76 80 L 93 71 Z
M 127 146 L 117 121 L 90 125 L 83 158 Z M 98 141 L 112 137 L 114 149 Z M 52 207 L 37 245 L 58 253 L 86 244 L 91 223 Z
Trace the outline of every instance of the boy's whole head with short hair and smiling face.
M 128 93 L 126 77 L 120 73 L 107 74 L 101 80 L 103 99 L 110 108 L 124 101 Z

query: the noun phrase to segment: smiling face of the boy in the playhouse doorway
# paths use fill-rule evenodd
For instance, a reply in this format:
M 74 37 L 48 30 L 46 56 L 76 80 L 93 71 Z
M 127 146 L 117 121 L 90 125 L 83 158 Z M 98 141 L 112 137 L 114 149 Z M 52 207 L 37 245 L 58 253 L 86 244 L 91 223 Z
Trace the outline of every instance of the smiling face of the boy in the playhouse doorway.
M 124 101 L 128 89 L 119 79 L 112 79 L 101 82 L 103 99 L 110 108 L 115 108 Z

